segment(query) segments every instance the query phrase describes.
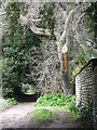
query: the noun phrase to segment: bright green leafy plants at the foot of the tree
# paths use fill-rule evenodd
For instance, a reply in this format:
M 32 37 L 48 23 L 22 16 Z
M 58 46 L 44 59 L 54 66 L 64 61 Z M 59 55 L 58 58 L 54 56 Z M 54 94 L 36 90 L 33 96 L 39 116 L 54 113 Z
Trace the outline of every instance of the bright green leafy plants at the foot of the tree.
M 56 95 L 44 94 L 37 100 L 34 106 L 65 106 L 66 109 L 70 112 L 77 112 L 75 96 L 74 95 L 64 95 L 64 93 L 58 93 Z

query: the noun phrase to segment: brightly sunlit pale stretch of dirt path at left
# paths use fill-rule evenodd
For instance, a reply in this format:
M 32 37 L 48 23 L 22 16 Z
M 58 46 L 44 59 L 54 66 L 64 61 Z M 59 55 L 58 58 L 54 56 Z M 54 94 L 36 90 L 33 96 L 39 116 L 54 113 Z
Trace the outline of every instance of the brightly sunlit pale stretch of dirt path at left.
M 32 110 L 34 102 L 32 103 L 19 103 L 0 113 L 0 126 L 2 128 L 19 128 L 24 126 L 24 119 L 27 113 Z

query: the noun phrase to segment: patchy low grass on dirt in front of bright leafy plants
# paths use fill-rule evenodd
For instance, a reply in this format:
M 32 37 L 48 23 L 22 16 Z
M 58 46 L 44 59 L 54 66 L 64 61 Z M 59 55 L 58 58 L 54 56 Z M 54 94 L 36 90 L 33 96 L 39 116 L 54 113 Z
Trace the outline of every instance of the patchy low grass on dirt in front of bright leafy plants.
M 59 113 L 63 115 L 59 115 Z M 65 110 L 64 107 L 52 107 L 52 108 L 34 108 L 28 113 L 27 116 L 32 116 L 32 120 L 45 122 L 52 119 L 63 120 L 78 120 L 78 113 L 70 113 Z

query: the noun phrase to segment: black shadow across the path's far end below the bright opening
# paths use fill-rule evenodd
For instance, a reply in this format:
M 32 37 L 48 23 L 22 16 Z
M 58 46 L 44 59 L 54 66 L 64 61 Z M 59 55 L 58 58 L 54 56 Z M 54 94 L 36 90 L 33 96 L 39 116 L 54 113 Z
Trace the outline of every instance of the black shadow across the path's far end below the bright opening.
M 19 103 L 36 102 L 39 96 L 40 96 L 39 94 L 18 94 L 16 96 L 16 100 Z

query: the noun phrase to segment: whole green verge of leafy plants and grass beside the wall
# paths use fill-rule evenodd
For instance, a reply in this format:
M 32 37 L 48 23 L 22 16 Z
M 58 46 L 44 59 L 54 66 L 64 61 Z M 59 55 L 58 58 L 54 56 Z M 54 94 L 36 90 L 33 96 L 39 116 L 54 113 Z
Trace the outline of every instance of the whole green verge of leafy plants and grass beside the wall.
M 79 115 L 78 108 L 75 106 L 75 96 L 71 94 L 70 95 L 64 95 L 64 93 L 57 93 L 57 95 L 44 94 L 43 96 L 40 96 L 37 100 L 34 106 L 40 108 L 33 109 L 27 116 L 32 115 L 31 119 L 36 119 L 37 121 L 50 121 L 53 118 L 77 120 Z M 46 108 L 43 108 L 45 106 Z M 64 115 L 61 115 L 60 113 L 63 113 Z

